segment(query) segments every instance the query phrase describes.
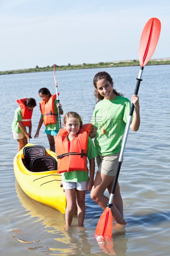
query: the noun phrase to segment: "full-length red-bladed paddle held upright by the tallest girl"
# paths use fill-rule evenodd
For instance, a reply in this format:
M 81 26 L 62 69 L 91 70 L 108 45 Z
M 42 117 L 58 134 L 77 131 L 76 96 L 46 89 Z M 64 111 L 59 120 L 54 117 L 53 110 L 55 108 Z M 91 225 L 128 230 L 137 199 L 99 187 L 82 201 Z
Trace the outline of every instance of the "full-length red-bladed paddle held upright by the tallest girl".
M 144 29 L 142 31 L 142 35 L 140 38 L 140 44 L 139 44 L 139 62 L 140 62 L 140 71 L 137 78 L 137 84 L 134 94 L 137 95 L 139 90 L 140 82 L 142 81 L 142 73 L 144 66 L 147 64 L 147 62 L 151 59 L 153 52 L 155 51 L 156 45 L 159 40 L 160 35 L 160 29 L 161 29 L 161 23 L 157 18 L 151 18 L 148 20 L 148 22 L 145 24 Z M 129 127 L 131 124 L 131 119 L 134 111 L 134 105 L 132 104 L 128 123 L 126 125 L 126 130 L 122 142 L 122 148 L 119 156 L 119 161 L 117 165 L 117 170 L 115 174 L 115 179 L 112 187 L 112 191 L 110 194 L 109 202 L 107 208 L 102 213 L 97 227 L 95 231 L 95 235 L 98 236 L 112 236 L 112 229 L 113 229 L 113 218 L 112 218 L 112 212 L 111 212 L 111 206 L 113 205 L 113 197 L 115 192 L 116 183 L 118 180 L 121 164 L 123 161 L 123 152 L 126 145 L 126 140 L 128 137 Z

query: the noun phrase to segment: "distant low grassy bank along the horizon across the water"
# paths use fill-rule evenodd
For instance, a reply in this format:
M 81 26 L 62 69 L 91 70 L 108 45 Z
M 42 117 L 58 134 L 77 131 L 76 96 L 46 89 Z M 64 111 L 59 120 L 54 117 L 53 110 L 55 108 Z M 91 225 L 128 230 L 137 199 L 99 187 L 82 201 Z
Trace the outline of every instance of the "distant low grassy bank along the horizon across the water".
M 170 58 L 165 59 L 156 59 L 150 60 L 147 65 L 168 65 L 170 64 Z M 111 68 L 111 67 L 129 67 L 129 66 L 140 66 L 138 60 L 122 60 L 122 61 L 113 61 L 113 62 L 99 62 L 96 64 L 79 64 L 79 65 L 68 65 L 57 66 L 57 70 L 71 70 L 71 69 L 85 69 L 85 68 Z M 9 71 L 0 71 L 0 75 L 8 75 L 8 74 L 19 74 L 19 73 L 31 73 L 31 72 L 44 72 L 44 71 L 53 71 L 53 66 L 47 66 L 44 68 L 40 68 L 36 66 L 35 68 L 27 68 L 27 69 L 16 69 Z

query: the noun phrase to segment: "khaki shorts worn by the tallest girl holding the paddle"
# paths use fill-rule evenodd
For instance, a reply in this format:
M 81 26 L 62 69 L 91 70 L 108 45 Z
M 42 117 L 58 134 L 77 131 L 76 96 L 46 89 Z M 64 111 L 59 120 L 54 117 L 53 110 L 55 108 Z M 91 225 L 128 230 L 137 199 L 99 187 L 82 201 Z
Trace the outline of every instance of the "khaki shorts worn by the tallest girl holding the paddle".
M 98 172 L 108 176 L 115 176 L 120 152 L 110 156 L 97 156 Z

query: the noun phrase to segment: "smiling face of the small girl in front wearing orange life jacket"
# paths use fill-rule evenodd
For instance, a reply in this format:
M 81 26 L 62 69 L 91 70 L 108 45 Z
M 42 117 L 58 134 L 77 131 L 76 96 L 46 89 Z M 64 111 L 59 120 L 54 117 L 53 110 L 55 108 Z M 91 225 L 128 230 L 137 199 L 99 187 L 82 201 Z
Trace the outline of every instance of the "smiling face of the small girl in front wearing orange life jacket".
M 69 138 L 76 137 L 80 130 L 80 120 L 76 117 L 68 117 L 63 126 L 67 130 Z

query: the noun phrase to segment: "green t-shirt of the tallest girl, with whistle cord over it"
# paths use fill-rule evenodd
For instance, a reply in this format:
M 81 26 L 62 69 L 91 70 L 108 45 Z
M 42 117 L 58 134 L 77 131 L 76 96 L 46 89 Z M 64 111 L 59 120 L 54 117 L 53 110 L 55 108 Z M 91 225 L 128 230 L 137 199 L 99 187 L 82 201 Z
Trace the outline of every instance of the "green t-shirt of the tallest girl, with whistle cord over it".
M 103 99 L 96 104 L 91 123 L 97 128 L 94 144 L 100 156 L 120 152 L 130 108 L 130 101 L 122 96 L 114 100 Z

